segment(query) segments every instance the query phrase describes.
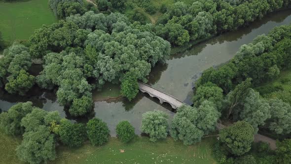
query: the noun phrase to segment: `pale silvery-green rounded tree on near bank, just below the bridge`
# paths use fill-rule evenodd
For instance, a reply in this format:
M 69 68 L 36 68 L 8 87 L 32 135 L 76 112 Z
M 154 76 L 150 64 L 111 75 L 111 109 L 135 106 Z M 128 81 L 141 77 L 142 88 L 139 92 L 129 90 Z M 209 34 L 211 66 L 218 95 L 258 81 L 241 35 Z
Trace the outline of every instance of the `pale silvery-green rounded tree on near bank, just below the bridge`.
M 144 113 L 141 130 L 149 134 L 151 142 L 166 138 L 168 135 L 168 116 L 162 111 Z

